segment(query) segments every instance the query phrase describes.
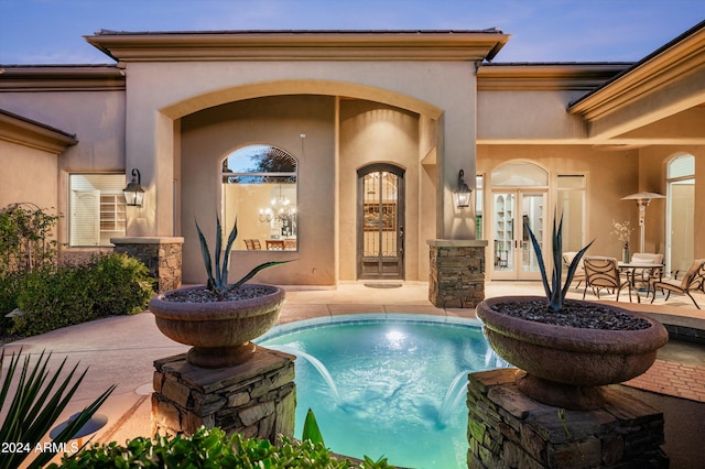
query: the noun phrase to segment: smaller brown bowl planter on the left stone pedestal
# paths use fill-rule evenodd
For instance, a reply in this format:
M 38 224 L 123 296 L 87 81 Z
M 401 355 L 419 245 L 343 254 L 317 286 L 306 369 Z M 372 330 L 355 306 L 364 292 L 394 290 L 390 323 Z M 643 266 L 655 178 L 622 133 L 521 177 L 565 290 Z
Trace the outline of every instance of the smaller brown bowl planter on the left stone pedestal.
M 149 308 L 156 327 L 166 337 L 193 346 L 186 360 L 202 368 L 225 368 L 246 362 L 256 346 L 250 340 L 267 332 L 279 319 L 284 290 L 271 285 L 246 284 L 271 293 L 261 296 L 209 303 L 165 301 L 166 292 L 153 297 Z M 203 285 L 178 291 L 202 290 Z

